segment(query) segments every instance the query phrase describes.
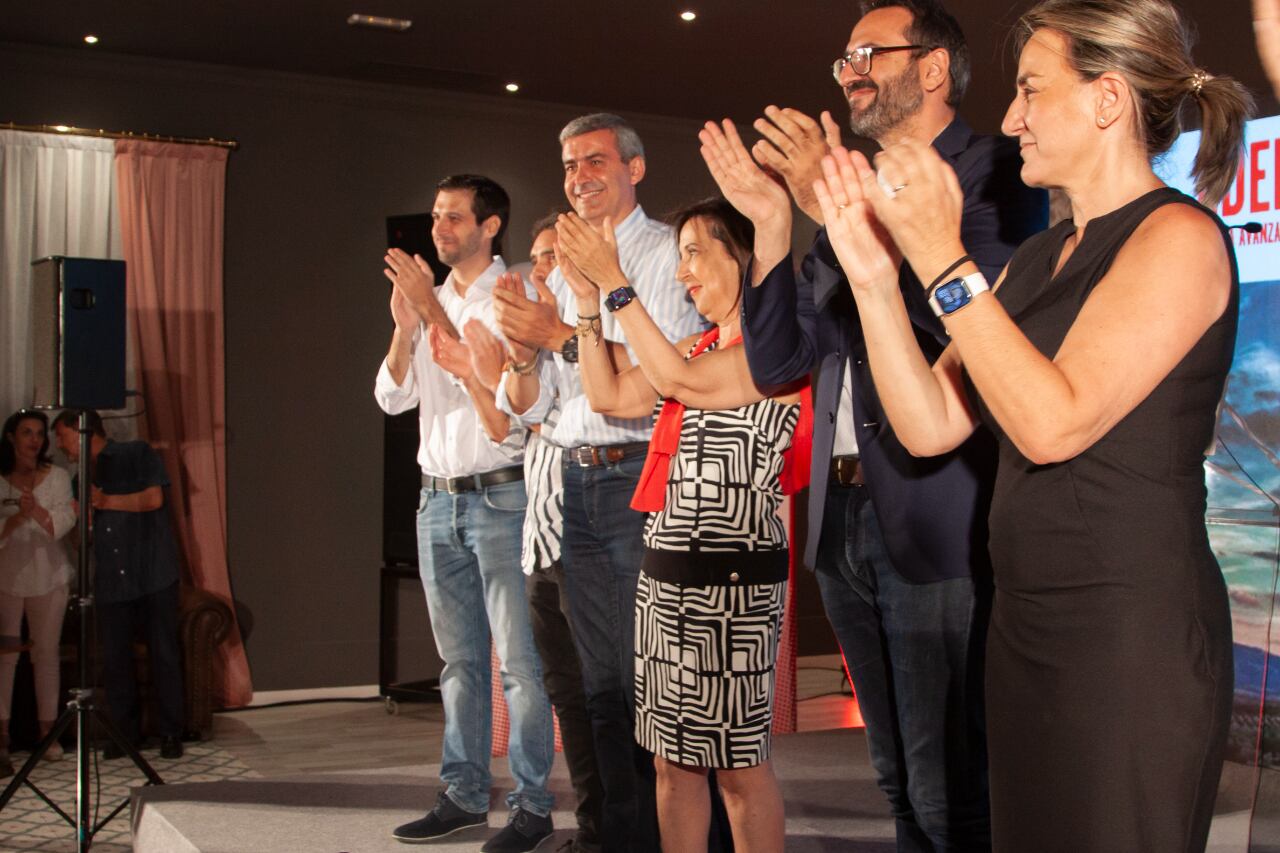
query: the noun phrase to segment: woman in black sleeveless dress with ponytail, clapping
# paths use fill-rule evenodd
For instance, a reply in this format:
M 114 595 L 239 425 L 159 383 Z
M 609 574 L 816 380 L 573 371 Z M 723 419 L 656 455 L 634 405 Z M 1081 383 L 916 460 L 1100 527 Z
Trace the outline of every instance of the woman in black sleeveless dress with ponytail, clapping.
M 979 420 L 1000 439 L 995 848 L 1203 849 L 1233 675 L 1202 462 L 1238 282 L 1222 224 L 1164 187 L 1151 158 L 1193 99 L 1208 128 L 1198 191 L 1221 197 L 1248 96 L 1190 63 L 1167 0 L 1046 0 L 1020 31 L 1004 129 L 1023 179 L 1065 190 L 1074 218 L 1028 241 L 996 295 L 960 245 L 955 177 L 932 150 L 887 149 L 878 172 L 837 150 L 819 197 L 902 443 L 936 453 Z M 932 371 L 902 332 L 890 241 L 933 282 L 952 337 Z

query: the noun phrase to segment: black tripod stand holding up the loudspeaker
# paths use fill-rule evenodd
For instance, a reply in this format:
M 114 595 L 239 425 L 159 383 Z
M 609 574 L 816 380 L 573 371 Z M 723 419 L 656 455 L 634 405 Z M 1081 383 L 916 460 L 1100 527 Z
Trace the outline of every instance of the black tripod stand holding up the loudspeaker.
M 92 738 L 90 735 L 90 722 L 96 721 L 106 731 L 108 736 L 133 761 L 134 766 L 147 777 L 148 785 L 163 785 L 164 780 L 160 775 L 147 763 L 147 760 L 142 757 L 137 747 L 115 727 L 110 717 L 102 713 L 93 702 L 93 686 L 90 683 L 88 675 L 88 658 L 90 658 L 90 642 L 88 642 L 88 624 L 90 615 L 93 607 L 93 597 L 88 592 L 88 507 L 90 507 L 90 485 L 88 485 L 88 462 L 90 462 L 90 428 L 88 418 L 82 411 L 79 412 L 79 460 L 77 466 L 77 474 L 79 478 L 79 489 L 77 497 L 79 500 L 79 558 L 77 560 L 77 590 L 76 606 L 79 608 L 79 644 L 78 644 L 78 680 L 77 686 L 70 690 L 70 701 L 67 703 L 67 710 L 61 712 L 58 721 L 54 722 L 54 727 L 49 730 L 40 744 L 31 752 L 31 757 L 22 768 L 14 775 L 5 786 L 4 793 L 0 793 L 0 811 L 9 804 L 13 795 L 18 793 L 18 788 L 27 785 L 32 792 L 36 793 L 40 799 L 58 812 L 58 815 L 76 827 L 76 849 L 77 852 L 88 850 L 90 845 L 93 843 L 93 835 L 97 834 L 100 829 L 106 826 L 113 817 L 119 815 L 125 806 L 129 804 L 128 799 L 124 799 L 118 804 L 111 812 L 93 824 L 93 816 L 90 812 L 90 753 L 93 751 Z M 31 781 L 31 771 L 40 762 L 40 758 L 52 747 L 58 738 L 70 726 L 76 724 L 76 817 L 72 817 L 65 811 L 63 811 L 58 803 L 49 799 L 49 797 Z

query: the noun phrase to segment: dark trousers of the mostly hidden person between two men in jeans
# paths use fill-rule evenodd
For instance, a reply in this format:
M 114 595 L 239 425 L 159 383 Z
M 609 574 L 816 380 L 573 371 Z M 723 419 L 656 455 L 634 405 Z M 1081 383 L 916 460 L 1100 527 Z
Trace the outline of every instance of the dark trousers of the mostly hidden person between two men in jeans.
M 529 593 L 529 616 L 534 628 L 534 644 L 543 658 L 543 688 L 559 720 L 564 763 L 577 797 L 577 840 L 589 849 L 600 845 L 600 807 L 604 789 L 595 765 L 595 742 L 591 719 L 586 713 L 582 692 L 582 666 L 573 648 L 564 611 L 564 566 L 556 561 L 549 569 L 536 569 L 525 581 Z

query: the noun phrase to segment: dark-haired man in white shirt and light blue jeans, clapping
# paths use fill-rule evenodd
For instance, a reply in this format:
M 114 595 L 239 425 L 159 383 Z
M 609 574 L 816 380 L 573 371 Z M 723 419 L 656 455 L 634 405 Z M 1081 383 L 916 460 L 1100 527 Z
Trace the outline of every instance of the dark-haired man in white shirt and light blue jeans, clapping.
M 524 429 L 498 411 L 493 393 L 474 375 L 460 380 L 443 366 L 467 321 L 497 330 L 493 287 L 506 264 L 495 252 L 511 205 L 502 187 L 480 175 L 453 175 L 436 188 L 431 240 L 452 272 L 434 287 L 425 261 L 388 251 L 396 329 L 374 394 L 392 415 L 419 407 L 419 567 L 444 661 L 445 790 L 425 817 L 393 835 L 417 843 L 488 825 L 492 631 L 511 712 L 516 790 L 507 797 L 512 811 L 506 829 L 481 849 L 515 853 L 531 850 L 552 833 L 547 779 L 554 757 L 550 704 L 520 569 Z

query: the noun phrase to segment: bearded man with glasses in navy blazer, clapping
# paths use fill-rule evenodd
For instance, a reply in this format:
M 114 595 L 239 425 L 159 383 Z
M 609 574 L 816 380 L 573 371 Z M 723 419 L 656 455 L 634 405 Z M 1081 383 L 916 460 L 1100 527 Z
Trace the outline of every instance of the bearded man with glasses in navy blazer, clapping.
M 964 242 L 996 280 L 1014 248 L 1047 224 L 1048 204 L 1020 177 L 1011 140 L 979 136 L 956 115 L 968 49 L 934 0 L 870 0 L 833 73 L 855 133 L 882 146 L 932 141 L 964 191 Z M 768 108 L 754 149 L 820 224 L 812 192 L 840 131 Z M 924 288 L 902 264 L 900 284 L 932 361 L 947 345 Z M 840 640 L 867 724 L 899 850 L 989 849 L 982 649 L 989 607 L 987 511 L 992 437 L 915 459 L 881 409 L 849 284 L 826 231 L 799 278 L 780 264 L 746 287 L 742 337 L 758 384 L 817 370 L 805 564 Z

